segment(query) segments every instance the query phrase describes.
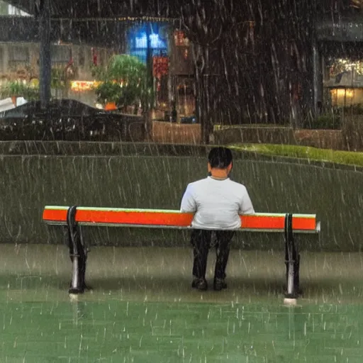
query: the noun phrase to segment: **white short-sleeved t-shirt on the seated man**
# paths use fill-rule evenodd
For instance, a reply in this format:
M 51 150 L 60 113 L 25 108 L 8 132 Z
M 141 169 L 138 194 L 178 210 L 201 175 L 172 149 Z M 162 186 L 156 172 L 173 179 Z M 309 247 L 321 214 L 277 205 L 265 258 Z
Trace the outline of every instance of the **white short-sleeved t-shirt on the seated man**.
M 188 184 L 180 211 L 195 212 L 192 227 L 209 230 L 238 229 L 240 214 L 255 213 L 244 185 L 212 177 Z

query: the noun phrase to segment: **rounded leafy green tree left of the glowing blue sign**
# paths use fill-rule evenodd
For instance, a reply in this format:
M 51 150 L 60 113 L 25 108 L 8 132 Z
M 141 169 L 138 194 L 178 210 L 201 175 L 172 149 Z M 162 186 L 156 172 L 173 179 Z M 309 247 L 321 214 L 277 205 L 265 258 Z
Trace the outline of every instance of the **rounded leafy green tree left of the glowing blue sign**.
M 137 57 L 113 55 L 106 68 L 95 67 L 97 100 L 101 104 L 114 102 L 122 111 L 141 106 L 143 112 L 152 108 L 152 88 L 147 85 L 147 68 Z

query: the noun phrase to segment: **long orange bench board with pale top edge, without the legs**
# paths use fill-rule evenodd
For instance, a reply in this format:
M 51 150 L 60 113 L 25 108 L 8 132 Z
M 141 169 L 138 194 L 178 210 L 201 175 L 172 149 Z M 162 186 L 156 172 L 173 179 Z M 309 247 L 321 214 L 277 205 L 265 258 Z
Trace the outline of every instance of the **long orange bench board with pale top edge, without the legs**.
M 66 225 L 68 206 L 45 206 L 43 221 L 50 225 Z M 240 216 L 240 230 L 252 232 L 284 232 L 286 213 L 255 213 Z M 79 225 L 106 225 L 147 228 L 191 228 L 193 213 L 164 209 L 77 207 L 75 221 Z M 294 233 L 318 233 L 320 223 L 315 214 L 293 214 Z

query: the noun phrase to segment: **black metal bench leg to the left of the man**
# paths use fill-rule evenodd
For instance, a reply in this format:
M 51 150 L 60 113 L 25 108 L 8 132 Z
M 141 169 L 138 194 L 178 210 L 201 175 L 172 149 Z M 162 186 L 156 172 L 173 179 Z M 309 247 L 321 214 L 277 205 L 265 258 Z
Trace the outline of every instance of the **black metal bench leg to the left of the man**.
M 75 221 L 77 206 L 72 206 L 67 211 L 67 230 L 69 257 L 72 261 L 72 281 L 69 294 L 83 294 L 86 289 L 86 259 L 87 251 L 82 243 L 82 233 Z

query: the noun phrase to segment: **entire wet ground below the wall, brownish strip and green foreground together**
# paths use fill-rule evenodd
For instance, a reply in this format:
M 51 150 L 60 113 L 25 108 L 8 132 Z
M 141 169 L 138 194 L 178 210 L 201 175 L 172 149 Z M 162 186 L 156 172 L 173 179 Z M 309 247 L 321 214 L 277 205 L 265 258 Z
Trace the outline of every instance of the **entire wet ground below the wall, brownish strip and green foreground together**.
M 233 250 L 229 288 L 201 293 L 188 249 L 94 248 L 72 300 L 64 246 L 0 245 L 0 266 L 0 362 L 362 362 L 358 253 L 303 253 L 290 308 L 282 252 Z

